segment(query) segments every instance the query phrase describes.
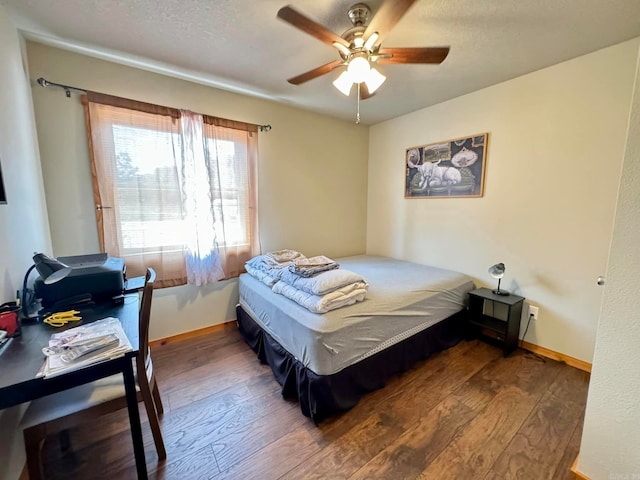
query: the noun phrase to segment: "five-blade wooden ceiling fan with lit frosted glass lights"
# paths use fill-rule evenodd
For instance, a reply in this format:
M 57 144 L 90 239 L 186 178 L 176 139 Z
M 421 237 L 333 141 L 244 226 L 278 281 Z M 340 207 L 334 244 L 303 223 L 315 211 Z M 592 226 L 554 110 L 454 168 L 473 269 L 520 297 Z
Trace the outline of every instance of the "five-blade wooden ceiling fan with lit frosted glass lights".
M 409 10 L 416 0 L 384 0 L 378 12 L 367 24 L 371 9 L 364 3 L 356 3 L 348 12 L 353 27 L 342 35 L 304 16 L 291 6 L 278 11 L 278 18 L 335 47 L 340 54 L 334 60 L 303 74 L 289 78 L 293 85 L 300 85 L 331 72 L 338 67 L 346 70 L 333 82 L 343 94 L 349 95 L 351 87 L 358 85 L 358 99 L 370 98 L 386 80 L 374 65 L 393 63 L 439 64 L 449 54 L 449 47 L 382 48 L 381 42 Z

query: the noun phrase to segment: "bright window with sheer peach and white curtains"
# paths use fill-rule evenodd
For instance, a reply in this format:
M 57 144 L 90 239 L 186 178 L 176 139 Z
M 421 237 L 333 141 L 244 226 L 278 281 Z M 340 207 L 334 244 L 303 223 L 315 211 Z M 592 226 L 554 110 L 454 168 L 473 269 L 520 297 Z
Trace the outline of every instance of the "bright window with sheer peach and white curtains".
M 88 93 L 103 251 L 159 286 L 240 274 L 257 253 L 257 128 Z

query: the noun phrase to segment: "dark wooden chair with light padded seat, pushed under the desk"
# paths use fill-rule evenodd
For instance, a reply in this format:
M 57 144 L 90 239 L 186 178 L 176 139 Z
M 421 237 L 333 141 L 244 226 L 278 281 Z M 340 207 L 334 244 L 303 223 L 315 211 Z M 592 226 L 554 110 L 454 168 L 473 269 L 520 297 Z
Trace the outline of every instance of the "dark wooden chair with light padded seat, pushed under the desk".
M 158 384 L 153 373 L 149 350 L 149 319 L 153 282 L 156 273 L 148 268 L 139 315 L 139 353 L 136 357 L 136 390 L 138 402 L 144 402 L 158 459 L 167 458 L 158 416 L 164 412 Z M 99 415 L 125 408 L 122 375 L 112 375 L 96 382 L 64 390 L 31 402 L 22 418 L 27 468 L 30 480 L 43 478 L 41 450 L 47 435 L 63 433 L 69 428 L 95 419 Z

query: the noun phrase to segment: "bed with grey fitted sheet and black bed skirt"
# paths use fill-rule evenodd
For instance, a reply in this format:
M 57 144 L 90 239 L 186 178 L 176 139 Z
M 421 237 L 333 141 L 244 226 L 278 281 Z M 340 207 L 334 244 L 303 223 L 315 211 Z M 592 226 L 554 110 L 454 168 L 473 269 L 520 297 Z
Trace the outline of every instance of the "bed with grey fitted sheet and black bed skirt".
M 369 283 L 363 302 L 315 314 L 242 274 L 240 333 L 286 398 L 315 422 L 464 336 L 468 276 L 387 257 L 337 259 Z

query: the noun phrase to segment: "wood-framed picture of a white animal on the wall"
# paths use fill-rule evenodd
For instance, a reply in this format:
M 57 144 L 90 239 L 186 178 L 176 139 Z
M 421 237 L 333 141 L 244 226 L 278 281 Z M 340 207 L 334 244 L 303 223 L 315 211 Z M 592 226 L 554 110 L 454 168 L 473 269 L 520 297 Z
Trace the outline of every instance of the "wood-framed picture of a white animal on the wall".
M 407 148 L 405 198 L 482 197 L 488 133 Z

